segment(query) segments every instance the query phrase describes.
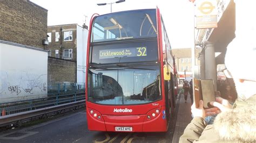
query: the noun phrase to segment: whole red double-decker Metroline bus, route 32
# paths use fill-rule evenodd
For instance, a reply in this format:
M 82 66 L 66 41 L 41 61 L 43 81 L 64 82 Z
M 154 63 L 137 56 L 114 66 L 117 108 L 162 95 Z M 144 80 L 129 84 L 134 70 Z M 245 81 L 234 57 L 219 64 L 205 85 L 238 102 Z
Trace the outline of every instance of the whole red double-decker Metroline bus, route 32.
M 159 9 L 92 16 L 86 62 L 89 130 L 168 130 L 175 74 Z

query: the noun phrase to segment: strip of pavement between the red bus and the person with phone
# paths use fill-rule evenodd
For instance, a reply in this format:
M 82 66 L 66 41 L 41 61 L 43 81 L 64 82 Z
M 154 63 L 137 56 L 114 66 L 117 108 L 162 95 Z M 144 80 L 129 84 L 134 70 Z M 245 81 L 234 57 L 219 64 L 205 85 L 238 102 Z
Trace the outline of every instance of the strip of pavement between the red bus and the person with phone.
M 184 95 L 179 95 L 179 109 L 177 113 L 177 120 L 176 120 L 176 126 L 174 129 L 174 134 L 172 138 L 172 142 L 176 143 L 179 142 L 179 137 L 183 134 L 186 126 L 190 123 L 192 120 L 191 117 L 191 99 L 190 95 L 187 96 L 187 103 L 185 103 Z

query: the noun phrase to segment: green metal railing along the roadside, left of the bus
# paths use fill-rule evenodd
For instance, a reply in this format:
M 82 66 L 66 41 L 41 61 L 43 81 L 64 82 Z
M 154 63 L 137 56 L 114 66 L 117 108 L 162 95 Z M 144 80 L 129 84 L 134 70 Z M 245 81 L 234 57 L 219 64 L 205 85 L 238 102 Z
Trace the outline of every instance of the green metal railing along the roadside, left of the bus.
M 1 104 L 1 116 L 83 101 L 85 99 L 84 85 L 84 83 L 49 85 L 47 97 Z

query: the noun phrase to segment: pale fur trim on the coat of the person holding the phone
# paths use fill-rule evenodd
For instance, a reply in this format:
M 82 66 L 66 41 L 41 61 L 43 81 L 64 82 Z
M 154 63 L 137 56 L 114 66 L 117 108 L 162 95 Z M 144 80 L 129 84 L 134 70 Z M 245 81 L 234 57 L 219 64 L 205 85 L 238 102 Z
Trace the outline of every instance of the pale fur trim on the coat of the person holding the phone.
M 220 113 L 214 130 L 221 139 L 242 142 L 256 141 L 256 104 Z

